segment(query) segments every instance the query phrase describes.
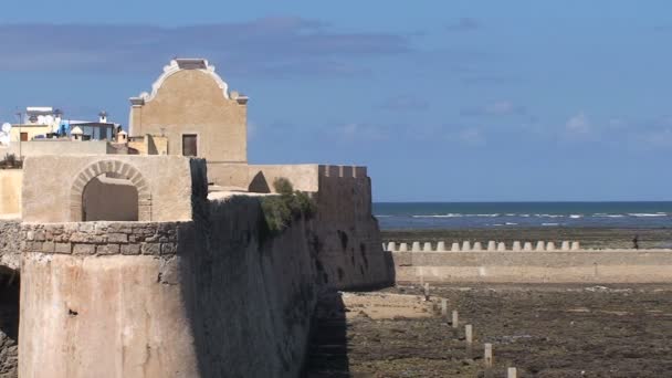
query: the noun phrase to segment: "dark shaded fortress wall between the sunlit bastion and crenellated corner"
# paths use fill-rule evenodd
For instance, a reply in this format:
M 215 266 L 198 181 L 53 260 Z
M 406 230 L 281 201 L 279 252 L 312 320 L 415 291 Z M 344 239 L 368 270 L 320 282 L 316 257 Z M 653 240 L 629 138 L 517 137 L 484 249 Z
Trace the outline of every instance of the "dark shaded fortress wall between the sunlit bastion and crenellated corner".
M 259 198 L 211 201 L 186 267 L 202 377 L 297 377 L 321 286 L 311 222 L 264 229 Z

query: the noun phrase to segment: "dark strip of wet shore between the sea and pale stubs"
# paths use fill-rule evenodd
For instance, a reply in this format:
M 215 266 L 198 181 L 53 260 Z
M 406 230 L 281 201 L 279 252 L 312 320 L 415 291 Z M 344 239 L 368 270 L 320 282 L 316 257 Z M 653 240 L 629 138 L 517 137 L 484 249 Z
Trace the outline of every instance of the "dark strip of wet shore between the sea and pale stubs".
M 460 229 L 460 230 L 382 230 L 382 241 L 395 242 L 438 242 L 447 245 L 470 240 L 505 242 L 508 248 L 515 240 L 525 242 L 579 241 L 582 248 L 632 248 L 632 239 L 639 237 L 639 246 L 672 248 L 672 228 L 664 229 L 606 229 L 606 228 L 502 228 L 502 229 Z

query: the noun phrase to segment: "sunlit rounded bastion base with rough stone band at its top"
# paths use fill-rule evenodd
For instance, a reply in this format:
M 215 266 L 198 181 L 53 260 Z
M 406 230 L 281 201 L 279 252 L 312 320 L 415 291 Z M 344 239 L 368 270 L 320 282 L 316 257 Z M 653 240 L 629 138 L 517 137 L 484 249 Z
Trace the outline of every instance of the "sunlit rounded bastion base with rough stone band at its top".
M 21 377 L 197 377 L 192 223 L 24 223 Z

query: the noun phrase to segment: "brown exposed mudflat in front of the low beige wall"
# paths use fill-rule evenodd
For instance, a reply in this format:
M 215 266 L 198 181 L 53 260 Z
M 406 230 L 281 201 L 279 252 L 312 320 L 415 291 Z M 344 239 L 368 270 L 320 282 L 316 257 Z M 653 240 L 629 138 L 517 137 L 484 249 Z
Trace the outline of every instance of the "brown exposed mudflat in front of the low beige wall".
M 397 296 L 387 294 L 411 294 Z M 672 285 L 451 285 L 325 297 L 308 377 L 672 377 Z M 440 315 L 459 311 L 459 327 Z M 472 324 L 474 344 L 464 342 Z M 483 366 L 492 343 L 494 368 Z

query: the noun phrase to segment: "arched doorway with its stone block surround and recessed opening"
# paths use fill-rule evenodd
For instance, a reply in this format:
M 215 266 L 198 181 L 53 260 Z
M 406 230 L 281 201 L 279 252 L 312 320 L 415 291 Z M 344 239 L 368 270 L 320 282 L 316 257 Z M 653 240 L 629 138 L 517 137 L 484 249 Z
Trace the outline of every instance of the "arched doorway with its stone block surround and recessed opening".
M 71 188 L 71 220 L 150 221 L 151 193 L 134 166 L 103 160 L 84 168 Z

